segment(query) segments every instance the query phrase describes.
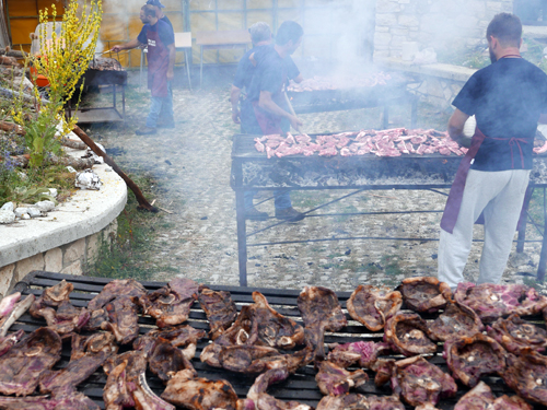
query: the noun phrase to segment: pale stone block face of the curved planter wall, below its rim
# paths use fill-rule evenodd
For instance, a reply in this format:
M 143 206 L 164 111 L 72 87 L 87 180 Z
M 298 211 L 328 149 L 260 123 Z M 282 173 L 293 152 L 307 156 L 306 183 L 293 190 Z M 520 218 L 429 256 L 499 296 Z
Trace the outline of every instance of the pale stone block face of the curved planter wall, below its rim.
M 110 242 L 118 229 L 117 220 L 93 235 L 49 249 L 0 268 L 0 293 L 7 295 L 27 273 L 46 270 L 68 274 L 83 274 L 94 261 L 103 241 Z

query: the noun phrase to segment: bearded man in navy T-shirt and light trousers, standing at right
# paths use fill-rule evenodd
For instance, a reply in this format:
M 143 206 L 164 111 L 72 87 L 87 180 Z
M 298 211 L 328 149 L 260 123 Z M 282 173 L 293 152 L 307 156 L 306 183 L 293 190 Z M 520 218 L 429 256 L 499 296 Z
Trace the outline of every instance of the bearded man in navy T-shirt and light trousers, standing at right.
M 500 283 L 528 185 L 537 122 L 547 120 L 547 75 L 521 57 L 521 35 L 517 16 L 496 15 L 486 32 L 492 63 L 473 74 L 452 103 L 452 139 L 465 144 L 464 125 L 469 116 L 477 120 L 441 220 L 439 279 L 453 290 L 464 281 L 473 225 L 481 214 L 477 283 Z

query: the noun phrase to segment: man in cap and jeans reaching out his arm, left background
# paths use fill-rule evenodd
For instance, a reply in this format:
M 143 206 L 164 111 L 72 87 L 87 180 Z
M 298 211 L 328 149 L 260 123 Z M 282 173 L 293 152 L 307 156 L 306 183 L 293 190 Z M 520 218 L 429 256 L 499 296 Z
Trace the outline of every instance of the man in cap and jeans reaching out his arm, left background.
M 140 11 L 144 26 L 139 36 L 112 48 L 114 52 L 142 45 L 148 46 L 148 87 L 151 91 L 150 113 L 144 127 L 135 131 L 138 136 L 156 132 L 156 127 L 175 128 L 173 117 L 173 67 L 175 65 L 175 35 L 163 20 L 155 15 L 153 5 L 146 4 Z

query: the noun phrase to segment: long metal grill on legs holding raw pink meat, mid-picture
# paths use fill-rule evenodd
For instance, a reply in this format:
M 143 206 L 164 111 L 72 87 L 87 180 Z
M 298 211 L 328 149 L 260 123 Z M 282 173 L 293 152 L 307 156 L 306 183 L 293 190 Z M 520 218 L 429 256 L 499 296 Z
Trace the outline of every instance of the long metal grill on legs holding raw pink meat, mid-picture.
M 396 157 L 376 156 L 375 154 L 354 156 L 311 156 L 288 155 L 281 159 L 268 159 L 265 152 L 258 152 L 255 148 L 255 138 L 261 136 L 235 134 L 232 147 L 232 173 L 231 185 L 235 190 L 236 219 L 237 219 L 237 246 L 240 283 L 247 284 L 247 247 L 274 245 L 274 243 L 247 244 L 247 237 L 259 232 L 278 226 L 284 222 L 276 222 L 271 225 L 246 233 L 245 206 L 243 196 L 248 190 L 272 191 L 286 190 L 310 190 L 310 189 L 356 189 L 352 194 L 322 204 L 305 213 L 310 213 L 327 204 L 357 195 L 363 190 L 379 189 L 424 189 L 440 192 L 438 189 L 446 189 L 452 186 L 455 173 L 462 160 L 457 155 L 441 154 L 405 154 Z M 315 137 L 311 134 L 310 137 Z M 531 173 L 531 188 L 547 187 L 547 157 L 535 155 L 534 169 Z M 531 196 L 527 196 L 529 201 Z M 423 211 L 420 211 L 423 212 Z M 431 210 L 428 212 L 441 212 Z M 545 201 L 544 201 L 544 213 Z M 387 213 L 387 212 L 385 212 Z M 362 215 L 371 212 L 358 213 Z M 547 214 L 547 213 L 546 213 Z M 547 219 L 546 219 L 547 220 Z M 534 223 L 535 224 L 535 223 Z M 525 224 L 519 232 L 517 251 L 523 251 L 525 242 Z M 539 227 L 544 235 L 542 257 L 537 271 L 537 279 L 543 281 L 547 265 L 547 226 Z M 342 241 L 342 239 L 381 239 L 379 237 L 335 237 L 335 238 L 310 238 L 305 241 L 276 242 L 287 243 L 311 243 L 317 241 Z M 399 241 L 438 241 L 438 238 L 397 238 L 385 237 L 383 239 Z

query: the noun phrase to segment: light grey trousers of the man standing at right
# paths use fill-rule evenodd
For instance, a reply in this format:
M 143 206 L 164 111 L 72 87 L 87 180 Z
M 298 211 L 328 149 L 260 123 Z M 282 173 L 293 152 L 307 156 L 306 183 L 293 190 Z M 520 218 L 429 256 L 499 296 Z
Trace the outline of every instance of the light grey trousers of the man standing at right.
M 473 226 L 485 212 L 485 243 L 480 256 L 480 283 L 500 283 L 521 215 L 529 169 L 484 172 L 469 169 L 462 207 L 452 234 L 441 230 L 439 280 L 453 290 L 464 281 L 472 249 Z

